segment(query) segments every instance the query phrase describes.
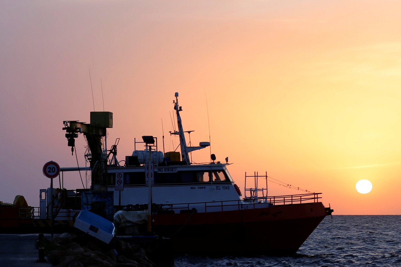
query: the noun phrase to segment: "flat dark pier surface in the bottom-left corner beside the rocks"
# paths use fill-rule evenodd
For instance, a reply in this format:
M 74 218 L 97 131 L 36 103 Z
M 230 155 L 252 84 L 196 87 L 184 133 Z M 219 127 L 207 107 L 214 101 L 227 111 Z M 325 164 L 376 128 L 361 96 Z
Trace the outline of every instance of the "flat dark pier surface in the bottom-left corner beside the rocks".
M 50 234 L 45 235 L 50 237 Z M 51 263 L 38 263 L 39 251 L 35 244 L 38 234 L 0 234 L 0 266 L 50 267 Z

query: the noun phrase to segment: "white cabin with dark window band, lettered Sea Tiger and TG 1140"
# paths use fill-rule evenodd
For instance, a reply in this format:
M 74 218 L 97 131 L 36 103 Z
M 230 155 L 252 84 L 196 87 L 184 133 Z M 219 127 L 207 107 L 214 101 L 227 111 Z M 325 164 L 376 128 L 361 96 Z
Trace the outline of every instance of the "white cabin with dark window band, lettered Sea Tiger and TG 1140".
M 152 202 L 175 204 L 239 200 L 240 196 L 225 165 L 211 163 L 155 167 Z M 109 191 L 114 190 L 115 173 L 119 172 L 121 168 L 109 168 Z M 146 203 L 148 187 L 145 185 L 145 168 L 125 168 L 123 179 L 121 205 Z M 119 203 L 119 194 L 114 194 L 114 203 Z

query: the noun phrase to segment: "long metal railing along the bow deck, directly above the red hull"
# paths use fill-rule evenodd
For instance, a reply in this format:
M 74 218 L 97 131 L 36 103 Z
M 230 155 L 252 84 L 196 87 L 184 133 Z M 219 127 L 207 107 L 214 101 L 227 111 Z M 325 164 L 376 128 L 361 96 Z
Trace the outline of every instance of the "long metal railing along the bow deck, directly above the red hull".
M 302 203 L 316 203 L 322 197 L 322 193 L 308 193 L 299 195 L 282 195 L 273 197 L 259 197 L 258 199 L 239 199 L 225 201 L 195 202 L 195 203 L 175 203 L 163 205 L 164 211 L 183 212 L 215 212 L 241 209 L 256 209 L 271 207 L 276 205 L 294 205 Z

